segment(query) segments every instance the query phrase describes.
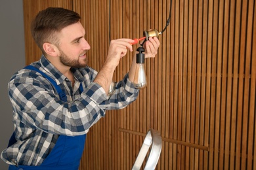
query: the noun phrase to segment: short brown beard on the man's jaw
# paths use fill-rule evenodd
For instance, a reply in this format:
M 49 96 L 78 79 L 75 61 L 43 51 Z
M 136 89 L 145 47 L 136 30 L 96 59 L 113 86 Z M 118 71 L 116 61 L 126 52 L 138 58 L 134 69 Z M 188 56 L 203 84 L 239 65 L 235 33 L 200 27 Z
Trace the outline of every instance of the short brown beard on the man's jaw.
M 60 50 L 60 49 L 58 49 Z M 66 65 L 68 67 L 74 67 L 74 68 L 82 68 L 86 67 L 88 63 L 88 59 L 85 58 L 81 61 L 78 59 L 70 59 L 62 50 L 60 50 L 60 62 L 63 65 Z

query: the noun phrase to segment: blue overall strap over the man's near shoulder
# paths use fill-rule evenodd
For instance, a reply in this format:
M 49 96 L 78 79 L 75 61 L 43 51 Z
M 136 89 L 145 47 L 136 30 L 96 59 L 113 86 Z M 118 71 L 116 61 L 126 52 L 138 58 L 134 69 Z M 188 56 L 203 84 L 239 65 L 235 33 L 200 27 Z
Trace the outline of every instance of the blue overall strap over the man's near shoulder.
M 43 73 L 43 71 L 40 71 L 39 69 L 37 69 L 33 65 L 27 65 L 26 67 L 24 67 L 24 69 L 30 69 L 30 70 L 33 70 L 33 71 L 37 71 L 43 77 L 47 78 L 51 82 L 51 84 L 53 84 L 54 88 L 57 90 L 58 95 L 60 96 L 60 99 L 62 101 L 67 101 L 66 93 L 61 90 L 60 86 L 58 86 L 58 84 L 56 84 L 56 82 L 53 80 L 53 78 L 51 78 L 50 76 L 46 75 L 45 73 Z

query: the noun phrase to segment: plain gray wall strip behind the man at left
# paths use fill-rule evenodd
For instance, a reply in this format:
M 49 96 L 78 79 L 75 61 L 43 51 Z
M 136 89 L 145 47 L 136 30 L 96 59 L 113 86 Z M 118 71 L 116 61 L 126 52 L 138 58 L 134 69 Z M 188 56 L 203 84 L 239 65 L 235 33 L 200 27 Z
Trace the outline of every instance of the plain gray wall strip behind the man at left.
M 0 1 L 0 152 L 6 148 L 13 131 L 12 108 L 7 84 L 25 66 L 23 5 L 20 0 Z M 0 169 L 8 165 L 0 160 Z

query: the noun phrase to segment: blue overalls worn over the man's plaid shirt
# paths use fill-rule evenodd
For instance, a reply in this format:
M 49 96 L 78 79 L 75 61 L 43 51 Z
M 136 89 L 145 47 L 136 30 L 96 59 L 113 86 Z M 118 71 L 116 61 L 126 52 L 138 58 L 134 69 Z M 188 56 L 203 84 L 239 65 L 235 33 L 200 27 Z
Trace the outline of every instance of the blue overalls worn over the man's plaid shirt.
M 60 99 L 62 101 L 67 101 L 66 93 L 62 92 L 60 87 L 56 84 L 53 78 L 47 76 L 39 69 L 33 67 L 32 65 L 28 65 L 25 69 L 31 69 L 33 71 L 37 71 L 41 73 L 45 78 L 47 78 L 55 87 L 60 95 Z M 83 92 L 83 87 L 80 84 L 79 90 Z M 85 146 L 85 135 L 79 135 L 75 137 L 60 135 L 58 140 L 49 154 L 47 158 L 41 163 L 40 166 L 26 166 L 19 165 L 18 167 L 14 165 L 9 166 L 9 170 L 32 170 L 32 169 L 41 169 L 41 170 L 77 170 L 79 168 L 79 163 L 81 160 L 81 156 L 83 154 L 83 149 Z M 14 133 L 9 141 L 9 146 L 11 144 L 16 143 L 16 139 L 14 137 Z

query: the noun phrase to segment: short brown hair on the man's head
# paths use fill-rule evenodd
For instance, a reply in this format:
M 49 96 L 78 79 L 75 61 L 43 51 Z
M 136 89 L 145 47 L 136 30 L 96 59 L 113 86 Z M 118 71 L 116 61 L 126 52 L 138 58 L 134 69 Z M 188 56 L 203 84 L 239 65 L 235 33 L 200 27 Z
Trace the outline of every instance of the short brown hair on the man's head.
M 58 44 L 56 33 L 64 27 L 77 23 L 81 17 L 77 12 L 63 8 L 49 7 L 41 10 L 31 24 L 32 37 L 35 43 L 45 54 L 43 43 L 50 42 Z

